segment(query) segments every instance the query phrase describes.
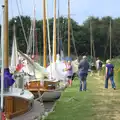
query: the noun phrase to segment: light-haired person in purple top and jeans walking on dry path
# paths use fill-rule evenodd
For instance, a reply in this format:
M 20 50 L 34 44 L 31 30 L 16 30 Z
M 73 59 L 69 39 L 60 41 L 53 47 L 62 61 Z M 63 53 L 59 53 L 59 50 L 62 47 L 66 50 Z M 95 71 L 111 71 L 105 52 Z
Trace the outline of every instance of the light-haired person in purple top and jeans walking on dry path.
M 110 60 L 106 61 L 106 72 L 105 72 L 105 88 L 108 88 L 108 80 L 110 79 L 112 88 L 115 90 L 115 82 L 114 82 L 114 66 L 111 64 Z

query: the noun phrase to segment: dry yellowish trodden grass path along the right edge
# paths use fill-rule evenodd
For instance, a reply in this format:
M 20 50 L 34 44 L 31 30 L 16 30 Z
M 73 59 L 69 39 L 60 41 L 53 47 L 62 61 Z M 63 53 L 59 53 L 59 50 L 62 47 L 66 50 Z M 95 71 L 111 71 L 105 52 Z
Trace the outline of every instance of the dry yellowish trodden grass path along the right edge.
M 97 77 L 98 78 L 98 77 Z M 94 77 L 96 79 L 96 77 Z M 93 110 L 98 113 L 96 120 L 119 120 L 120 114 L 120 89 L 113 90 L 109 82 L 109 89 L 104 89 L 104 80 L 96 79 L 97 89 L 94 95 Z

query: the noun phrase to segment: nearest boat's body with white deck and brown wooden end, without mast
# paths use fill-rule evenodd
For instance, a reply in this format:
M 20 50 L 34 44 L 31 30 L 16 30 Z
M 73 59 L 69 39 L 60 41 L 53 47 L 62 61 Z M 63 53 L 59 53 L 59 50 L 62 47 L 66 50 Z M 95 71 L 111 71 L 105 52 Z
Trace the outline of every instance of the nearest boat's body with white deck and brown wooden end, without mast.
M 32 109 L 33 104 L 34 95 L 28 90 L 12 88 L 12 90 L 4 92 L 4 112 L 8 119 L 25 114 Z

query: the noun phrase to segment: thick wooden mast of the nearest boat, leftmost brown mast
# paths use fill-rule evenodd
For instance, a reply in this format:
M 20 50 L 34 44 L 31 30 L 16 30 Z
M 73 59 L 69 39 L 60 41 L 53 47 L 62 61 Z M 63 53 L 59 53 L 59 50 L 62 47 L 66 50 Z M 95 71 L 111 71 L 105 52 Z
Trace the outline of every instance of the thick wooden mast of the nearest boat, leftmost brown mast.
M 8 68 L 9 50 L 8 50 L 8 0 L 4 0 L 5 5 L 5 24 L 4 24 L 4 67 Z

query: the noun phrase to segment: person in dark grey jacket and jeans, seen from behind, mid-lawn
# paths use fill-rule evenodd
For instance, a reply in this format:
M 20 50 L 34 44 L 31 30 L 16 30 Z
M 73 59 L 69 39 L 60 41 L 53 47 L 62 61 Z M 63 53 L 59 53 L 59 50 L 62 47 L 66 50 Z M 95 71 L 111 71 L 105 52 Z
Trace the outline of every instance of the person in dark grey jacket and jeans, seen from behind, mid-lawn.
M 80 78 L 80 91 L 86 91 L 87 89 L 87 75 L 88 75 L 89 63 L 87 61 L 87 57 L 83 56 L 83 59 L 80 61 L 78 65 L 79 78 Z

